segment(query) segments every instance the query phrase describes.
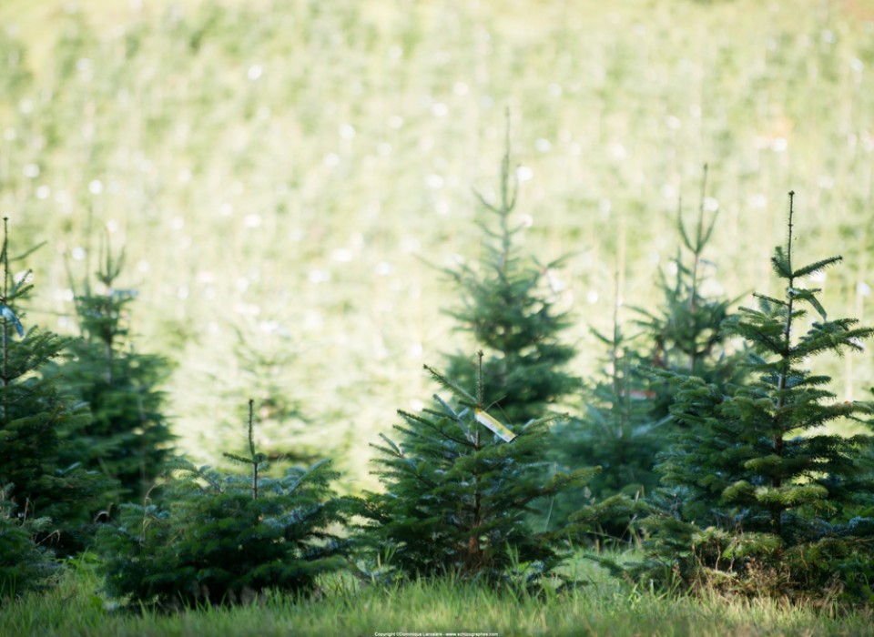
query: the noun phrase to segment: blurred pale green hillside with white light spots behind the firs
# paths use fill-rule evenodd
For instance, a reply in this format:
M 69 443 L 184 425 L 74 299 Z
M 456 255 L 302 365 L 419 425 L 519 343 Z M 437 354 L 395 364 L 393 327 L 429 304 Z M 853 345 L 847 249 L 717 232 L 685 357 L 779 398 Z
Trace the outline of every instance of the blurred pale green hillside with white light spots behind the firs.
M 845 257 L 826 307 L 870 322 L 870 0 L 4 0 L 0 68 L 0 207 L 14 252 L 47 242 L 26 320 L 75 332 L 72 282 L 125 248 L 195 460 L 242 445 L 252 397 L 260 435 L 369 483 L 422 363 L 473 356 L 439 268 L 479 256 L 507 112 L 525 247 L 568 256 L 574 373 L 617 276 L 658 300 L 681 200 L 719 214 L 708 289 L 748 304 L 794 190 L 800 258 Z M 868 352 L 822 371 L 870 398 Z

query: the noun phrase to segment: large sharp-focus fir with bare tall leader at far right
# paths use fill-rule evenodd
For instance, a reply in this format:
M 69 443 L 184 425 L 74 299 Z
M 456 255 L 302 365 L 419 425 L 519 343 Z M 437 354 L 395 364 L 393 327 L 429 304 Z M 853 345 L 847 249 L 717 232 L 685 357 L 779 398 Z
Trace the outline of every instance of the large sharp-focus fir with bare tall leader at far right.
M 671 412 L 685 429 L 657 468 L 666 490 L 643 521 L 648 561 L 636 571 L 645 577 L 816 594 L 874 558 L 874 521 L 848 520 L 871 492 L 859 452 L 869 439 L 826 428 L 870 405 L 836 400 L 828 376 L 807 369 L 819 355 L 860 350 L 874 329 L 828 319 L 819 290 L 804 286 L 840 257 L 798 267 L 793 215 L 789 193 L 787 243 L 771 259 L 785 293 L 756 295 L 758 308 L 725 325 L 746 340 L 753 378 L 727 388 L 673 378 Z

